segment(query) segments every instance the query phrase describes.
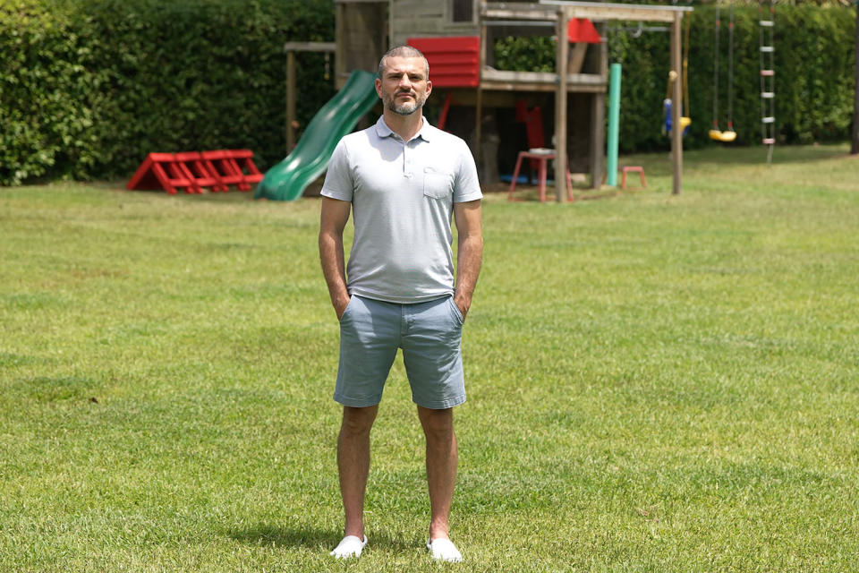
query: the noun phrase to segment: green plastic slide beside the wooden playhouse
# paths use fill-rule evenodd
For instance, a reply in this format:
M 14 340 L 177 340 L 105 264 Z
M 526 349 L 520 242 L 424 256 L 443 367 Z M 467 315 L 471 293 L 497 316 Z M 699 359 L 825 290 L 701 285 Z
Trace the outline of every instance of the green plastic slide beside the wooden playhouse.
M 255 199 L 295 201 L 325 171 L 337 143 L 378 101 L 376 76 L 355 70 L 343 89 L 313 116 L 286 158 L 271 167 L 257 185 Z

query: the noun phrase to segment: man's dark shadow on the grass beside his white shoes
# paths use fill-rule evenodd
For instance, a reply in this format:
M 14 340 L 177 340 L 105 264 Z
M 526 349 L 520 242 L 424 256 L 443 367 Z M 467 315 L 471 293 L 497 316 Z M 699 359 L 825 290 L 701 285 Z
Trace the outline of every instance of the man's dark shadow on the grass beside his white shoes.
M 340 543 L 343 534 L 339 531 L 321 529 L 309 526 L 281 526 L 258 524 L 244 529 L 229 529 L 226 535 L 234 540 L 251 545 L 268 545 L 275 547 L 306 547 L 317 549 L 320 546 L 334 549 Z M 384 531 L 373 534 L 373 546 L 401 549 L 408 543 L 404 539 L 395 539 Z

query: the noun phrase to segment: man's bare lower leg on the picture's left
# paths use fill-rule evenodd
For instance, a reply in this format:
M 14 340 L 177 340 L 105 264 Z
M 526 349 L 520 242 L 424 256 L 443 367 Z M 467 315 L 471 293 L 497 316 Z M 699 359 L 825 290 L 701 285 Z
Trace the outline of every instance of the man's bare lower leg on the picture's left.
M 370 429 L 378 406 L 344 406 L 337 439 L 337 468 L 345 513 L 344 535 L 364 536 L 364 492 L 370 473 Z

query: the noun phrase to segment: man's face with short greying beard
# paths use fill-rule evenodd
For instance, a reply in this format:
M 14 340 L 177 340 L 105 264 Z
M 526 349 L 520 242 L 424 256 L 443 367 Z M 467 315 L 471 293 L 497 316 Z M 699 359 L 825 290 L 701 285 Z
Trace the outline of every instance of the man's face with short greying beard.
M 399 115 L 412 115 L 421 109 L 430 91 L 432 82 L 421 57 L 387 57 L 385 73 L 376 80 L 378 97 L 387 109 Z

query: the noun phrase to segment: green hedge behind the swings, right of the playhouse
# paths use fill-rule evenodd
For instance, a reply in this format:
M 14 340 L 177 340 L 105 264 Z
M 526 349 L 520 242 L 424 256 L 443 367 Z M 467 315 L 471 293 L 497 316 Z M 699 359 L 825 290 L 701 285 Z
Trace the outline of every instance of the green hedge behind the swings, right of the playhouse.
M 721 10 L 719 39 L 719 126 L 727 127 L 727 18 Z M 737 6 L 734 44 L 734 126 L 736 145 L 761 140 L 759 13 Z M 685 145 L 719 145 L 707 132 L 712 124 L 715 8 L 699 6 L 691 15 L 690 107 L 693 124 Z M 625 22 L 635 27 L 637 22 Z M 776 122 L 780 143 L 844 141 L 850 137 L 854 97 L 855 10 L 812 5 L 776 8 Z M 668 149 L 661 133 L 662 100 L 668 81 L 667 33 L 629 31 L 612 35 L 612 57 L 623 64 L 620 147 L 622 151 Z M 554 70 L 554 43 L 547 38 L 504 38 L 495 55 L 500 69 Z

